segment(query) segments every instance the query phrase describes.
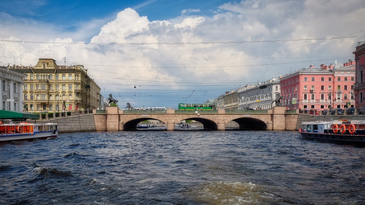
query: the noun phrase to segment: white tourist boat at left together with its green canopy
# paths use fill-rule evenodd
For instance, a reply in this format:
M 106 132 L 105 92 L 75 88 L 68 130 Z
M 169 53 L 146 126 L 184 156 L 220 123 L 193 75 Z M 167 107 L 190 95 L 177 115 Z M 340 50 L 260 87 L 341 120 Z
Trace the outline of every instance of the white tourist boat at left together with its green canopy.
M 0 110 L 0 119 L 13 119 L 23 121 L 26 119 L 39 119 L 39 115 L 9 110 Z M 11 123 L 0 125 L 0 143 L 10 141 L 24 141 L 31 139 L 47 139 L 57 137 L 56 123 Z

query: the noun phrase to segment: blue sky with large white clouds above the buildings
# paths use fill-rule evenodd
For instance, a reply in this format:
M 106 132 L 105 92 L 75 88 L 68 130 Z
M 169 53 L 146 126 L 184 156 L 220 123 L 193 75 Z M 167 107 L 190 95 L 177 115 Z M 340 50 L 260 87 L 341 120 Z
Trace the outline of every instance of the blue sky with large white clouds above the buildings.
M 0 66 L 81 64 L 120 108 L 176 109 L 311 64 L 342 65 L 365 40 L 363 0 L 13 0 L 0 8 Z

